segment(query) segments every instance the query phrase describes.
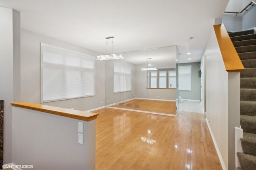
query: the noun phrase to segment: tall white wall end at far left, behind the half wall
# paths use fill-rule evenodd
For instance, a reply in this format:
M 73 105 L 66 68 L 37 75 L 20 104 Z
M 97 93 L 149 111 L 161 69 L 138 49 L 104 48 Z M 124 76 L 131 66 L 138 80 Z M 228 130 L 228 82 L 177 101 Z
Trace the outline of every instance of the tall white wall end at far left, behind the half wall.
M 20 12 L 0 7 L 0 22 L 0 99 L 4 100 L 4 164 L 6 164 L 12 162 L 12 106 L 10 103 L 20 98 L 20 76 L 18 75 Z M 17 62 L 14 62 L 14 59 Z

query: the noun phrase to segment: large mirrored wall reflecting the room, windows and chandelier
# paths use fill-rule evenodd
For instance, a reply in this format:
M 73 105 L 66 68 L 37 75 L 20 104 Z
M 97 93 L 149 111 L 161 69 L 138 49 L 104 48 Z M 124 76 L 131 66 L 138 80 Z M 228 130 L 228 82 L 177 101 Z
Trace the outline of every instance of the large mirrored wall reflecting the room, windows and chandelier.
M 105 103 L 119 109 L 176 115 L 176 46 L 119 53 L 105 60 Z

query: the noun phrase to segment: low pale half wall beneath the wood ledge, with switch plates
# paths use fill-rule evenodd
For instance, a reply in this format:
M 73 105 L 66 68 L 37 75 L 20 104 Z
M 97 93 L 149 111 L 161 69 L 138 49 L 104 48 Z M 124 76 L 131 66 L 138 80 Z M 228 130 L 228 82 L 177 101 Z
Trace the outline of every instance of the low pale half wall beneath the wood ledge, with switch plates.
M 95 120 L 80 121 L 20 107 L 12 110 L 12 163 L 33 165 L 36 170 L 95 169 Z M 84 124 L 83 144 L 78 143 L 78 122 Z

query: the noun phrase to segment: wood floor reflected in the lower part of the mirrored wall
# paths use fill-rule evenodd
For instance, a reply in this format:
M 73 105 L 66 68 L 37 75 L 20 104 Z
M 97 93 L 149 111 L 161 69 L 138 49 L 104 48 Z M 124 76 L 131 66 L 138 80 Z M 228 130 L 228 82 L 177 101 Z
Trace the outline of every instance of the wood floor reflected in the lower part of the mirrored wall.
M 112 105 L 112 107 L 119 107 L 125 109 L 135 109 L 142 111 L 168 113 L 176 115 L 176 102 L 175 101 L 159 101 L 159 100 L 146 100 L 146 99 L 133 99 Z

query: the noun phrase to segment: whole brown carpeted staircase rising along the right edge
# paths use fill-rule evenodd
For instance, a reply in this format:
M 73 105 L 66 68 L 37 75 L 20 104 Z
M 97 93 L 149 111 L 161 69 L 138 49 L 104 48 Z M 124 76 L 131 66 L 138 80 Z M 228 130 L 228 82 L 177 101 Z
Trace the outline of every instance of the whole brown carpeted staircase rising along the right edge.
M 240 125 L 243 153 L 237 170 L 256 170 L 256 34 L 254 30 L 229 33 L 245 70 L 240 73 Z

